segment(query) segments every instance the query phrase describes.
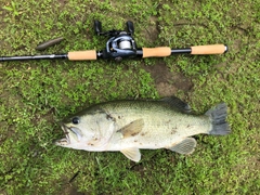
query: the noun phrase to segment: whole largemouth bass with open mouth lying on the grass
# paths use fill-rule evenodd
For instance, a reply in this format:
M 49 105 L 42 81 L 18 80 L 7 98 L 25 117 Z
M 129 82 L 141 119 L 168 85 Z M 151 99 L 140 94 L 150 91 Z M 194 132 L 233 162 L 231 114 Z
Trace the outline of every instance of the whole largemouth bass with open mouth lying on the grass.
M 225 135 L 231 132 L 227 106 L 220 103 L 204 115 L 176 96 L 160 100 L 122 100 L 99 103 L 65 118 L 65 138 L 56 145 L 88 152 L 121 152 L 139 162 L 140 150 L 167 148 L 190 155 L 193 135 Z

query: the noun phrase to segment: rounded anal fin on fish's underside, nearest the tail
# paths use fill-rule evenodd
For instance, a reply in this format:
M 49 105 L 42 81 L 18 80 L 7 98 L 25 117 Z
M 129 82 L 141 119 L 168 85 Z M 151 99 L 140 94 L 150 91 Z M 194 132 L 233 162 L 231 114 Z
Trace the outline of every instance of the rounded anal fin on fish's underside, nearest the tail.
M 196 147 L 196 140 L 194 138 L 186 138 L 182 142 L 169 147 L 168 150 L 180 154 L 192 154 Z

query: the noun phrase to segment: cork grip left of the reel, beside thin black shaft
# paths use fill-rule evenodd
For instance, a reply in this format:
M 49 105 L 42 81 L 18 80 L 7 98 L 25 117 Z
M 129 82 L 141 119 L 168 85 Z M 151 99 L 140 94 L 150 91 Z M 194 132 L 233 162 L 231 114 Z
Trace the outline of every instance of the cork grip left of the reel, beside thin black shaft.
M 96 60 L 96 51 L 87 50 L 87 51 L 68 52 L 68 60 L 69 61 Z

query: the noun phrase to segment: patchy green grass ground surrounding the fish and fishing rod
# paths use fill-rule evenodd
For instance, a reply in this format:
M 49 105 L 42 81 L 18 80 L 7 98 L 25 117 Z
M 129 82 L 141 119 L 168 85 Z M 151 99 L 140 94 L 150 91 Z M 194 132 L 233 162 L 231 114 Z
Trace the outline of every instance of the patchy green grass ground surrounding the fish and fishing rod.
M 93 34 L 134 22 L 139 47 L 226 43 L 224 55 L 176 55 L 142 61 L 0 63 L 0 194 L 258 194 L 260 117 L 259 1 L 8 1 L 0 3 L 0 55 L 36 54 L 42 41 L 65 41 L 46 53 L 101 50 Z M 197 135 L 191 156 L 142 151 L 141 162 L 119 153 L 89 153 L 53 145 L 58 121 L 108 100 L 158 99 L 144 70 L 166 64 L 192 79 L 177 94 L 197 113 L 229 105 L 232 134 Z M 164 75 L 159 75 L 164 77 Z M 178 80 L 170 80 L 172 87 Z

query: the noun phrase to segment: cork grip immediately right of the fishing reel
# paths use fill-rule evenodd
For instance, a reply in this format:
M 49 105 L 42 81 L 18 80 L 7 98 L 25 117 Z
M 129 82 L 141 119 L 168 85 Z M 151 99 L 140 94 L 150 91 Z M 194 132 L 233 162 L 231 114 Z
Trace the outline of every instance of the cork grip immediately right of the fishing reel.
M 159 48 L 142 48 L 143 57 L 160 57 L 169 56 L 171 54 L 171 49 L 169 47 L 159 47 Z

